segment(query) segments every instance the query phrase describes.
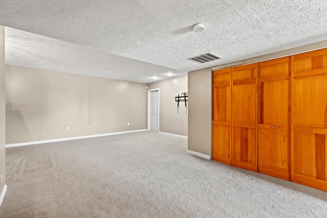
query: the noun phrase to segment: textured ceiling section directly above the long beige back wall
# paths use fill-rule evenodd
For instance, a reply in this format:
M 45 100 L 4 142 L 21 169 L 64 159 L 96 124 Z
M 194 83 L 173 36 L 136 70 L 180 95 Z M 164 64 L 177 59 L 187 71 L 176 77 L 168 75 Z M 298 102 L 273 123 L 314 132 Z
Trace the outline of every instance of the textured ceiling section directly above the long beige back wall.
M 125 58 L 85 46 L 6 28 L 6 64 L 138 83 L 185 75 L 184 71 Z

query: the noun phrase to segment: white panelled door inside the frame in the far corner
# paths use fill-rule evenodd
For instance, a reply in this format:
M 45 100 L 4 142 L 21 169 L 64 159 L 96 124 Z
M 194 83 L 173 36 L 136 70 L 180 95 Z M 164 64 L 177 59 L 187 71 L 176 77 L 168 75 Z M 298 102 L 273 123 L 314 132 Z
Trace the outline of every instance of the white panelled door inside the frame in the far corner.
M 159 132 L 159 91 L 150 92 L 150 131 Z

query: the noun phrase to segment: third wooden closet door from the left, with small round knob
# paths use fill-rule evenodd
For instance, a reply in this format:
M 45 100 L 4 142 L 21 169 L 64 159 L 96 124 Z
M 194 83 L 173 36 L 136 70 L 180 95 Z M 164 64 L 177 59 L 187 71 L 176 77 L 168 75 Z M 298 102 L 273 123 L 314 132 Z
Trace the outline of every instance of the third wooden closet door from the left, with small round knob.
M 291 179 L 291 58 L 259 63 L 259 173 Z

